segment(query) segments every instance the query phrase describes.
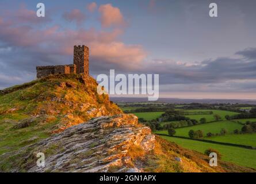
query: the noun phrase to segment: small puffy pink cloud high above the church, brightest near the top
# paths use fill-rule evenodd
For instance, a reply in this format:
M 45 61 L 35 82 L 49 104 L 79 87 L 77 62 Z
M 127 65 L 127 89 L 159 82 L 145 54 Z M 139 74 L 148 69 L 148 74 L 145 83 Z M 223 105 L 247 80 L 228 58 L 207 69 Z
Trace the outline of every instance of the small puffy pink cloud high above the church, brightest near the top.
M 101 25 L 104 28 L 110 26 L 123 26 L 125 21 L 118 7 L 113 7 L 111 4 L 101 5 L 98 9 L 101 14 Z

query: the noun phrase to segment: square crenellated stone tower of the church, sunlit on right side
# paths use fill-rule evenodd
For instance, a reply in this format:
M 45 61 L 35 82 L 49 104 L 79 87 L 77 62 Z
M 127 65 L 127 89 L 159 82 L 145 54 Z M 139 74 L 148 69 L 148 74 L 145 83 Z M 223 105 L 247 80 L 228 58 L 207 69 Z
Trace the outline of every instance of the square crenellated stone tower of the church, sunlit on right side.
M 74 64 L 77 74 L 89 75 L 89 48 L 85 45 L 74 46 Z

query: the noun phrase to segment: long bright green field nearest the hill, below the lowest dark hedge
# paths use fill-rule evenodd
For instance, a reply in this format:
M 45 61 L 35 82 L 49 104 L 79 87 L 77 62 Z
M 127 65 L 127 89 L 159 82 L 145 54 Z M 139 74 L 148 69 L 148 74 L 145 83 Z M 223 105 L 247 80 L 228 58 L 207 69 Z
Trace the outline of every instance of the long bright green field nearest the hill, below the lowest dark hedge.
M 204 153 L 208 148 L 213 148 L 222 155 L 221 160 L 232 162 L 240 166 L 256 168 L 256 150 L 232 147 L 228 145 L 219 145 L 213 143 L 204 143 L 196 140 L 180 139 L 177 137 L 161 136 L 163 139 L 174 142 L 181 147 Z

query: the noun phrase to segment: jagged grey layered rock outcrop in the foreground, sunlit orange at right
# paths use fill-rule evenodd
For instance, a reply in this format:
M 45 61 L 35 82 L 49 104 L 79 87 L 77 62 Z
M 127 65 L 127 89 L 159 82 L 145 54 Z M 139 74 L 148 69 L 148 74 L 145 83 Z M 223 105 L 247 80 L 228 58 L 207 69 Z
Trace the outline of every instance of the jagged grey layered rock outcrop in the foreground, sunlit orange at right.
M 25 153 L 22 167 L 28 172 L 108 172 L 113 168 L 119 172 L 140 172 L 128 154 L 133 145 L 151 151 L 155 136 L 150 128 L 137 124 L 136 116 L 120 114 L 97 117 L 70 127 L 25 147 L 20 153 Z M 26 151 L 28 148 L 32 151 Z M 45 167 L 36 165 L 38 152 L 45 154 Z

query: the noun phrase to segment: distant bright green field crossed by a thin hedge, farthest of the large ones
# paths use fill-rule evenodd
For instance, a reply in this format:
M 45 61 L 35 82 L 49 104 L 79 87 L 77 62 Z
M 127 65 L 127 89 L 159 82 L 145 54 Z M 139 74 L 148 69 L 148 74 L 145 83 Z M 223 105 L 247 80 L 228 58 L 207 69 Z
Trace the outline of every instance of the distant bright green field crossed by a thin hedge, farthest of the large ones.
M 200 119 L 202 117 L 204 117 L 207 119 L 207 122 L 211 122 L 211 121 L 215 121 L 215 118 L 213 116 L 214 114 L 219 114 L 222 120 L 226 120 L 226 118 L 225 118 L 226 115 L 232 116 L 235 114 L 239 114 L 239 113 L 231 112 L 231 111 L 227 111 L 227 110 L 211 110 L 211 109 L 185 110 L 185 112 L 198 112 L 198 111 L 201 111 L 201 112 L 212 111 L 213 114 L 185 115 L 185 116 L 189 117 L 190 119 L 197 120 L 197 121 L 200 121 Z

